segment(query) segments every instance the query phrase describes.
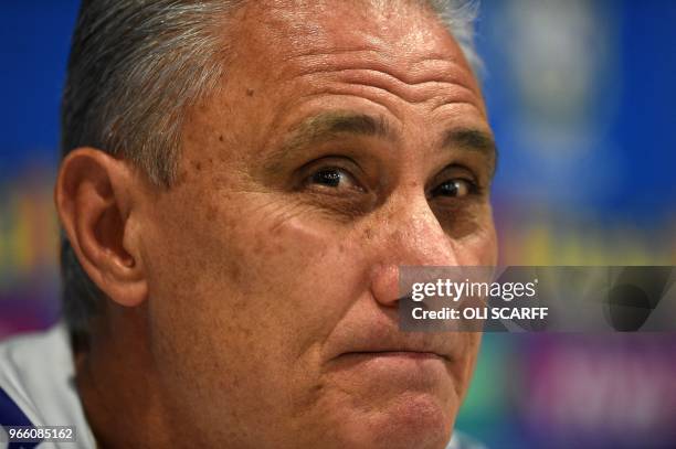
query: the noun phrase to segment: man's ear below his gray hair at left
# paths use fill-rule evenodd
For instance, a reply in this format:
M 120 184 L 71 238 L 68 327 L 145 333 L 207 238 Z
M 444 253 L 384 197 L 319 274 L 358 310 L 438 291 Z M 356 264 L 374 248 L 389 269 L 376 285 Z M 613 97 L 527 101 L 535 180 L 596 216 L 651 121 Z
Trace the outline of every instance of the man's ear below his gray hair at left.
M 80 264 L 108 298 L 127 307 L 140 304 L 148 293 L 134 201 L 138 178 L 125 161 L 77 148 L 61 163 L 54 190 Z

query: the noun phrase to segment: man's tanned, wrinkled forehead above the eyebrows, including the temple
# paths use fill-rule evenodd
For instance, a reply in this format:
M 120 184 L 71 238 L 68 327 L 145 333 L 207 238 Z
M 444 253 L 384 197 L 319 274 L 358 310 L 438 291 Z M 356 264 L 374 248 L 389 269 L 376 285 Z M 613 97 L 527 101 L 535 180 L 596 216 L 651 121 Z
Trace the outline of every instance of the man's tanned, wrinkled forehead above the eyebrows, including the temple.
M 303 124 L 346 113 L 388 125 L 397 148 L 442 146 L 451 128 L 489 133 L 475 77 L 425 4 L 245 3 L 228 28 L 223 84 L 183 128 L 188 151 L 254 164 Z

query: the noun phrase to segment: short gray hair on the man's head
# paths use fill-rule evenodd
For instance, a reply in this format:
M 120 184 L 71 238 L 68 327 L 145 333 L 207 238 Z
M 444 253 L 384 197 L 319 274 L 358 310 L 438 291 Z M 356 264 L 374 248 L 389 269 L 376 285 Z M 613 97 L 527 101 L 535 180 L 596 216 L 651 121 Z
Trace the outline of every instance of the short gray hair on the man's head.
M 169 188 L 176 177 L 186 109 L 224 74 L 220 31 L 244 0 L 83 0 L 62 103 L 62 156 L 94 147 L 129 160 Z M 476 1 L 426 0 L 476 68 Z M 105 295 L 62 233 L 63 316 L 71 333 L 88 334 Z

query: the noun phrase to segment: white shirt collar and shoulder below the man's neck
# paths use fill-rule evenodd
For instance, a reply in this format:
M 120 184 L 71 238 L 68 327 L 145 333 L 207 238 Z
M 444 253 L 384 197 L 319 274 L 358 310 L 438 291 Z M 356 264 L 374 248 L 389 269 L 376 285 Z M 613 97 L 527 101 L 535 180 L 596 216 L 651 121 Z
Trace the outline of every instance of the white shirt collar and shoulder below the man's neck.
M 77 391 L 65 324 L 0 343 L 0 449 L 96 448 Z M 73 426 L 76 442 L 12 443 L 1 425 Z M 4 438 L 3 438 L 4 437 Z M 446 449 L 485 449 L 455 431 Z

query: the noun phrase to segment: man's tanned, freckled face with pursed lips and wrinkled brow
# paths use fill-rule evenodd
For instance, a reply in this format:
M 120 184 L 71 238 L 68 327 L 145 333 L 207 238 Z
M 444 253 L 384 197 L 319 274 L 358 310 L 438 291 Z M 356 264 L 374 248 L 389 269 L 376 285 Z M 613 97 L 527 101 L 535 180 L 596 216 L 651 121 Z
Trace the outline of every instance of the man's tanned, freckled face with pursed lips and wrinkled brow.
M 398 267 L 495 264 L 495 154 L 457 44 L 389 3 L 240 10 L 177 183 L 142 207 L 159 384 L 204 442 L 450 436 L 479 335 L 399 331 Z

